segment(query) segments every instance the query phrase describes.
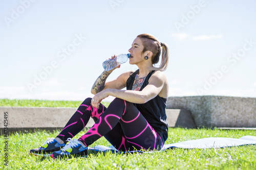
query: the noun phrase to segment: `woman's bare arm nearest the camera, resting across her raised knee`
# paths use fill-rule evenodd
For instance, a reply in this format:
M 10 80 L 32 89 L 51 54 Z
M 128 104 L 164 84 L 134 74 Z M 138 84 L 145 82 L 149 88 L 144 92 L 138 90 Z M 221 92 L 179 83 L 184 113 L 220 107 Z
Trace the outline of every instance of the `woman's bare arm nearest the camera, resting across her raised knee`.
M 142 91 L 106 89 L 94 96 L 92 105 L 98 107 L 98 104 L 109 95 L 123 99 L 132 103 L 146 103 L 161 93 L 162 97 L 168 96 L 168 84 L 165 75 L 157 71 L 148 81 L 148 85 Z

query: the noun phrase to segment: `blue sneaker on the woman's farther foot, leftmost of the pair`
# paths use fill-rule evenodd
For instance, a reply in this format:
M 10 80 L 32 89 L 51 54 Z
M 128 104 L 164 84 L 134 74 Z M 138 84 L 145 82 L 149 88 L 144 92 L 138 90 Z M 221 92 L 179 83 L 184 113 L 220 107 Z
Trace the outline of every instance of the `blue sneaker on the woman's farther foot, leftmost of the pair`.
M 47 138 L 41 147 L 32 149 L 29 153 L 36 156 L 50 156 L 52 152 L 59 151 L 63 147 L 65 147 L 65 143 L 59 144 L 55 138 Z

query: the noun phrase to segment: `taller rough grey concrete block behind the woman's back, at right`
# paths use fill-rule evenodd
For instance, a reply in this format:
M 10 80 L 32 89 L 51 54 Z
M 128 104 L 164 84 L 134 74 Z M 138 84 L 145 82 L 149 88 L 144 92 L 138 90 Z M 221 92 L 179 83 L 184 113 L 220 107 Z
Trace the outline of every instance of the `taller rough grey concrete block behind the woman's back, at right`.
M 212 95 L 169 97 L 167 108 L 189 110 L 197 127 L 256 127 L 256 98 Z

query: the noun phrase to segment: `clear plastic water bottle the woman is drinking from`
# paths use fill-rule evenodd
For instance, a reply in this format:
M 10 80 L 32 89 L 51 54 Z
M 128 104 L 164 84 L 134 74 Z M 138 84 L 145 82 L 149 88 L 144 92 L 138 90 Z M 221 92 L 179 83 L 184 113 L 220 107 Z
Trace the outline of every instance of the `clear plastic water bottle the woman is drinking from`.
M 119 54 L 115 58 L 111 58 L 109 60 L 104 61 L 102 63 L 102 66 L 104 70 L 109 71 L 118 66 L 119 64 L 125 63 L 128 60 L 128 58 L 130 58 L 130 54 Z

